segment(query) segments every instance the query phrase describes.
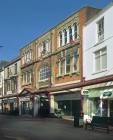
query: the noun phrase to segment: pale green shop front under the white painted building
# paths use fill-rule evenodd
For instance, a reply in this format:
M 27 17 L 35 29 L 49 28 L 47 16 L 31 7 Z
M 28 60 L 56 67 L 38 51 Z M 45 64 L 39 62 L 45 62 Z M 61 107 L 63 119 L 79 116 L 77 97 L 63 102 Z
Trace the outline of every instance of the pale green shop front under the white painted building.
M 84 120 L 92 116 L 113 116 L 113 88 L 85 89 L 83 95 Z

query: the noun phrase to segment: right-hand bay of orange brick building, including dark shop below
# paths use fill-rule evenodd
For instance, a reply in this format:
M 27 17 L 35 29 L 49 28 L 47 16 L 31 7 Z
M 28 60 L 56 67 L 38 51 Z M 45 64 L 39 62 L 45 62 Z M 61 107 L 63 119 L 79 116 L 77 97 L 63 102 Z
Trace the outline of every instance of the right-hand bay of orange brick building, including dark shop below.
M 50 91 L 50 113 L 61 110 L 63 117 L 82 113 L 82 32 L 84 23 L 99 10 L 84 7 L 54 29 L 52 67 L 54 82 Z M 90 13 L 90 15 L 89 15 Z

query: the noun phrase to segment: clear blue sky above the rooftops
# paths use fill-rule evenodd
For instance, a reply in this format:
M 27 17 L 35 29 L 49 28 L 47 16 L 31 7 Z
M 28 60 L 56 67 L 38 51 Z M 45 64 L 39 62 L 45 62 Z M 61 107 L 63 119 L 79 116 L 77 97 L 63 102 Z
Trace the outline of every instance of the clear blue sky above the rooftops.
M 10 61 L 20 48 L 83 6 L 103 8 L 112 0 L 0 0 L 0 60 Z

